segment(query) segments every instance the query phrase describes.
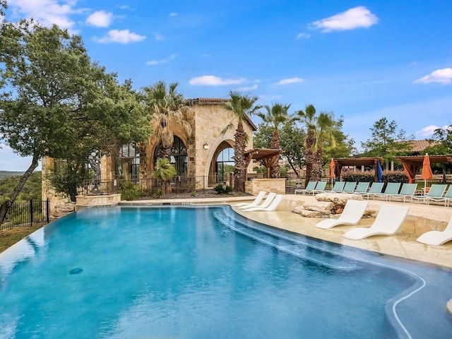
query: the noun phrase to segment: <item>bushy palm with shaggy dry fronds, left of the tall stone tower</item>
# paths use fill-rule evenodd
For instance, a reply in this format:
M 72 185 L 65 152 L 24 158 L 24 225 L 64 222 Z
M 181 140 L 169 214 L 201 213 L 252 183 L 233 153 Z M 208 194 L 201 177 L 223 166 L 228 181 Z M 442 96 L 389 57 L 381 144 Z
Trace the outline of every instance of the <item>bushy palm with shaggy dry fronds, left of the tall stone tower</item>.
M 174 133 L 170 129 L 169 122 L 177 124 L 191 135 L 191 125 L 186 119 L 189 106 L 182 94 L 177 93 L 178 83 L 170 83 L 167 86 L 163 81 L 155 83 L 152 87 L 143 88 L 145 104 L 153 114 L 153 133 L 162 143 L 162 157 L 169 159 L 171 147 L 174 141 Z

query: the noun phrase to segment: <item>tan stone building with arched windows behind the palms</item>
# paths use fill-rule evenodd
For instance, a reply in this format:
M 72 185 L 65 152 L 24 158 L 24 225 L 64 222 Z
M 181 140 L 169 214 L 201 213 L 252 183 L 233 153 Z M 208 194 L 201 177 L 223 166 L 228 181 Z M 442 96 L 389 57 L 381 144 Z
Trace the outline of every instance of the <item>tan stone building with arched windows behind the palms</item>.
M 210 183 L 225 180 L 225 165 L 233 165 L 234 128 L 222 134 L 232 117 L 223 107 L 227 99 L 197 98 L 192 105 L 187 119 L 191 124 L 191 136 L 186 135 L 174 121 L 169 121 L 169 128 L 174 133 L 171 162 L 177 175 L 187 177 L 208 177 Z M 247 149 L 253 148 L 253 131 L 256 126 L 251 119 L 243 121 L 244 131 L 248 136 Z M 123 145 L 117 155 L 103 157 L 100 163 L 101 181 L 115 179 L 148 179 L 157 161 L 160 140 L 151 135 L 143 145 Z M 54 170 L 52 159 L 42 160 L 42 173 Z M 250 164 L 251 167 L 252 164 Z M 250 168 L 249 168 L 250 169 Z M 45 175 L 43 175 L 43 178 Z M 42 185 L 43 198 L 55 195 L 48 183 Z

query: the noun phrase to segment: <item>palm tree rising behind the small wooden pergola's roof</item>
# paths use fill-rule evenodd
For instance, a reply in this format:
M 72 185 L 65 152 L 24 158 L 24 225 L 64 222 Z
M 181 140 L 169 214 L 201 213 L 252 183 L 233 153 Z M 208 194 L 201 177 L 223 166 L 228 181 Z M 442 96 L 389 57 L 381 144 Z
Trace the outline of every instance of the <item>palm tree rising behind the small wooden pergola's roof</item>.
M 266 114 L 258 112 L 257 116 L 260 117 L 263 120 L 263 122 L 268 124 L 271 129 L 273 129 L 273 134 L 270 141 L 270 148 L 279 150 L 280 136 L 278 131 L 283 124 L 285 124 L 287 121 L 291 119 L 290 115 L 287 113 L 287 111 L 290 108 L 290 105 L 282 105 L 279 102 L 276 102 L 271 107 L 265 105 L 264 108 L 267 111 Z M 273 164 L 270 166 L 270 177 L 272 178 L 281 177 L 280 165 L 278 161 L 273 162 Z

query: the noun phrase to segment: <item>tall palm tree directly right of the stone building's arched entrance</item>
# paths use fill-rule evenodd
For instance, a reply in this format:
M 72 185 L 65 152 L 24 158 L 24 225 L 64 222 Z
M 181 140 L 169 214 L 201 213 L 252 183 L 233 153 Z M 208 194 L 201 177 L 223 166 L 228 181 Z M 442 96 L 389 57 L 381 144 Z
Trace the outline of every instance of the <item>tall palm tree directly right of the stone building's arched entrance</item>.
M 222 130 L 225 134 L 230 129 L 234 128 L 234 121 L 237 120 L 237 128 L 234 133 L 234 177 L 237 179 L 237 191 L 244 191 L 244 180 L 246 176 L 246 159 L 245 146 L 248 142 L 248 136 L 243 129 L 243 121 L 248 119 L 252 114 L 258 113 L 261 106 L 256 105 L 258 97 L 250 97 L 249 95 L 240 95 L 237 92 L 230 92 L 230 101 L 223 104 L 223 107 L 232 116 L 232 120 Z

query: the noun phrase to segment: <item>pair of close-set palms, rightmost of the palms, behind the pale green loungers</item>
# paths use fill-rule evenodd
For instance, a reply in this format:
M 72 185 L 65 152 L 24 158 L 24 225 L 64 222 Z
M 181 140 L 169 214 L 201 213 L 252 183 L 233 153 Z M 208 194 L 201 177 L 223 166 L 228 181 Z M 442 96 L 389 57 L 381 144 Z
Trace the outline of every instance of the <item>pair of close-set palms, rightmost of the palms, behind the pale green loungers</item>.
M 307 105 L 297 112 L 298 119 L 307 127 L 305 141 L 306 184 L 311 180 L 320 180 L 323 167 L 323 141 L 329 141 L 335 147 L 334 121 L 329 114 L 316 116 L 314 105 Z

